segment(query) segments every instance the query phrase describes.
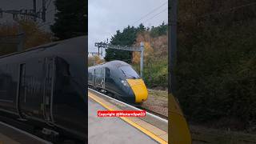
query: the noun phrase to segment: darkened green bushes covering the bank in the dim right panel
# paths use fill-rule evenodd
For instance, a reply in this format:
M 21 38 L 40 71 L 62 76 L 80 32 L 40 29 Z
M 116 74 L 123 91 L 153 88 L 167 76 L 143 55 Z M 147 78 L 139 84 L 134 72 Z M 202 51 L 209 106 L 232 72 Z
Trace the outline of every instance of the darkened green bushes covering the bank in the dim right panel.
M 256 126 L 256 14 L 239 14 L 179 21 L 176 96 L 192 122 Z

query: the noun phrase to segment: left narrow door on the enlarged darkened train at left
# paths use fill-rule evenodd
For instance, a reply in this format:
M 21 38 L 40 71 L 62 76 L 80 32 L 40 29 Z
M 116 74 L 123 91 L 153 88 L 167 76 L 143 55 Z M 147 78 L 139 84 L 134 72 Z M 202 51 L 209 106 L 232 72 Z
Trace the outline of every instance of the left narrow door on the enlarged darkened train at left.
M 17 110 L 18 110 L 18 115 L 20 120 L 25 120 L 25 111 L 26 110 L 26 64 L 22 63 L 19 66 L 19 82 L 18 82 L 18 93 L 17 93 Z

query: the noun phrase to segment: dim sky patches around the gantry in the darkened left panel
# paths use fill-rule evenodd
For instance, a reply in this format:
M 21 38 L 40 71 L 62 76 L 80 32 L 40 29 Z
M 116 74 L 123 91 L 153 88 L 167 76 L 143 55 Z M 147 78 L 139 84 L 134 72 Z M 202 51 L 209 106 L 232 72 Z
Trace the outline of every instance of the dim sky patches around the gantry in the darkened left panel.
M 37 11 L 42 7 L 42 0 L 37 0 Z M 38 19 L 39 26 L 42 29 L 50 31 L 50 25 L 54 23 L 54 14 L 56 12 L 54 0 L 46 0 L 46 22 Z M 33 9 L 33 0 L 0 0 L 0 9 L 2 10 L 24 10 Z M 0 23 L 14 22 L 12 14 L 3 13 Z

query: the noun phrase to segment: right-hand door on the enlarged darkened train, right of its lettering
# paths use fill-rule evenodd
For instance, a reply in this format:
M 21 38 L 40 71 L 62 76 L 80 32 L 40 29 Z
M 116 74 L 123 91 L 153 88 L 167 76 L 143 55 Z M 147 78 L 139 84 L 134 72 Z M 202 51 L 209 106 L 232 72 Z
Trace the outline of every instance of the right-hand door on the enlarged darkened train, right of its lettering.
M 53 94 L 54 94 L 54 58 L 45 59 L 45 86 L 43 95 L 43 113 L 46 122 L 54 122 L 53 118 Z

